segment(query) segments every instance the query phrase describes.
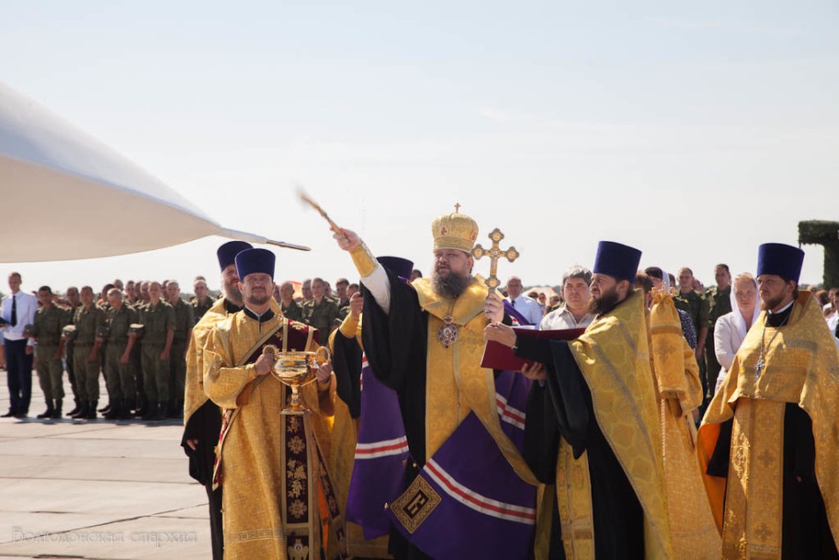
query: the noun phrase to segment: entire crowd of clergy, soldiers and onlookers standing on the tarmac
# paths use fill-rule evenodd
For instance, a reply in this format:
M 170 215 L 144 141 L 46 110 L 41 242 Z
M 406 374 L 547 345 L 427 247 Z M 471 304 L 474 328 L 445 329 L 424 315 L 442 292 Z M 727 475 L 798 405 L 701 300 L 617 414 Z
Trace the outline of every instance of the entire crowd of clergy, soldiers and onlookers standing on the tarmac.
M 765 243 L 705 288 L 603 241 L 549 300 L 472 273 L 472 218 L 432 233 L 425 278 L 336 231 L 361 281 L 334 295 L 295 296 L 243 242 L 217 298 L 203 277 L 190 301 L 172 280 L 32 296 L 13 273 L 5 416 L 33 348 L 40 417 L 63 364 L 75 418 L 102 373 L 106 418 L 183 416 L 215 558 L 839 557 L 839 290 L 799 285 L 803 251 Z M 310 384 L 270 378 L 320 346 Z

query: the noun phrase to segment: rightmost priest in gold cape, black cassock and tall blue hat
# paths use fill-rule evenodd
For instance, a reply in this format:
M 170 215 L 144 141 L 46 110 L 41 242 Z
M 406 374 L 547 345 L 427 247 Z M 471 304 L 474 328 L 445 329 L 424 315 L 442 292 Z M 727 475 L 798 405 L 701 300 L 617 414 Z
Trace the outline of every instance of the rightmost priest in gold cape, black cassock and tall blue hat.
M 764 312 L 699 430 L 724 558 L 839 557 L 839 356 L 815 298 L 798 291 L 803 260 L 759 247 Z

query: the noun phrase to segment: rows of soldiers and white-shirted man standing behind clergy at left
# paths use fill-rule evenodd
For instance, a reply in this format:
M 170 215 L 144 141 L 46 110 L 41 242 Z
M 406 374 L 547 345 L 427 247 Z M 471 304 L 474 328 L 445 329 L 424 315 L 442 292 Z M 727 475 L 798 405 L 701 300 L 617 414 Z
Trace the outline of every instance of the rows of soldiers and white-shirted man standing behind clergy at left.
M 23 278 L 8 275 L 0 325 L 0 367 L 8 370 L 9 410 L 2 417 L 29 416 L 32 372 L 44 393 L 38 418 L 58 419 L 65 400 L 64 375 L 74 406 L 65 416 L 96 420 L 159 421 L 183 418 L 186 349 L 192 327 L 216 302 L 204 276 L 192 285 L 194 296 L 181 296 L 176 280 L 114 280 L 94 291 L 85 285 L 63 294 L 49 285 L 30 293 Z M 331 332 L 349 310 L 358 285 L 336 280 L 336 290 L 320 278 L 304 280 L 302 294 L 284 282 L 274 288 L 285 317 Z M 100 379 L 107 389 L 100 402 Z

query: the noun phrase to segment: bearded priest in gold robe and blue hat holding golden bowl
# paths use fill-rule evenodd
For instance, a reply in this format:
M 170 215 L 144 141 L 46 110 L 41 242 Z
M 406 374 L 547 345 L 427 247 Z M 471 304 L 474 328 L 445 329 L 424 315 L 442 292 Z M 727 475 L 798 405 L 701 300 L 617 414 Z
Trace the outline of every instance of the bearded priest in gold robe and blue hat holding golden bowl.
M 244 309 L 217 324 L 204 347 L 204 388 L 223 411 L 214 481 L 223 489 L 224 557 L 320 558 L 318 458 L 329 453 L 321 416 L 331 414 L 331 369 L 321 367 L 317 382 L 301 389 L 312 427 L 303 416 L 280 415 L 287 390 L 262 350 L 313 350 L 317 333 L 271 305 L 274 254 L 247 249 L 236 265 Z

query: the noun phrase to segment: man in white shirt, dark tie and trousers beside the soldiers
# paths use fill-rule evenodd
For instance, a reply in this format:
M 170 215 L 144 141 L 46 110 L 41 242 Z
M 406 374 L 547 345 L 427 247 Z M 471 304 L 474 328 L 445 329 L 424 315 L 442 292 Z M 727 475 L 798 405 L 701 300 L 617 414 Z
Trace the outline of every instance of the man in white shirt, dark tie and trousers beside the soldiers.
M 9 407 L 3 418 L 25 418 L 29 414 L 32 397 L 33 341 L 23 336 L 23 328 L 31 325 L 38 311 L 38 300 L 20 290 L 21 277 L 17 272 L 8 275 L 12 293 L 3 297 L 0 317 L 3 318 L 3 357 L 6 361 Z

